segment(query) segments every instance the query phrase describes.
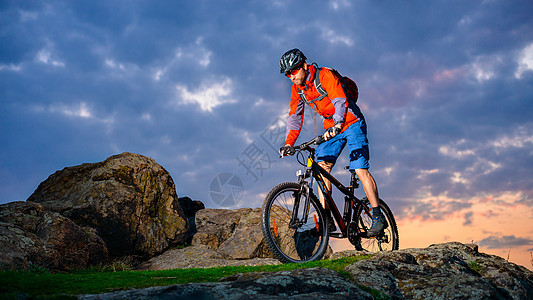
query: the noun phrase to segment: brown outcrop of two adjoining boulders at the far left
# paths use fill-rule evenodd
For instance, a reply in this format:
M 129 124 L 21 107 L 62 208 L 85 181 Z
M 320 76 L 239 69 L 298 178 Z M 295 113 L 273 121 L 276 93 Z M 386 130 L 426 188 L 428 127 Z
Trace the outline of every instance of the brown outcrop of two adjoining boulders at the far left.
M 178 198 L 170 174 L 142 155 L 64 168 L 27 202 L 0 206 L 0 268 L 66 271 L 123 256 L 137 264 L 190 242 L 203 208 Z

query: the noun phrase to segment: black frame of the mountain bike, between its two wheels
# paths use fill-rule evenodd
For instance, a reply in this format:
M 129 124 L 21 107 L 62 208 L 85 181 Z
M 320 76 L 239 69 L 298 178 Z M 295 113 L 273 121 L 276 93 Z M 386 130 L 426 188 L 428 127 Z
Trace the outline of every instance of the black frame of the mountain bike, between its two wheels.
M 318 187 L 320 191 L 322 192 L 322 194 L 324 195 L 324 201 L 326 202 L 325 204 L 326 206 L 329 206 L 330 210 L 332 211 L 333 217 L 335 218 L 335 221 L 337 221 L 337 224 L 340 227 L 341 236 L 339 237 L 340 238 L 347 237 L 348 236 L 347 227 L 348 227 L 349 222 L 352 219 L 352 212 L 355 211 L 354 208 L 356 204 L 361 205 L 363 209 L 365 210 L 365 212 L 369 216 L 371 216 L 370 209 L 366 205 L 364 205 L 364 203 L 359 198 L 353 195 L 353 192 L 355 189 L 354 187 L 355 182 L 354 182 L 353 177 L 350 183 L 351 186 L 350 187 L 344 186 L 335 177 L 333 177 L 333 175 L 331 175 L 329 172 L 324 170 L 324 168 L 322 168 L 318 163 L 316 163 L 314 159 L 314 156 L 315 156 L 314 148 L 311 148 L 309 147 L 309 145 L 304 144 L 304 145 L 301 145 L 300 149 L 307 150 L 309 152 L 309 155 L 307 157 L 307 168 L 306 168 L 305 174 L 300 175 L 300 179 L 299 179 L 300 183 L 302 183 L 302 181 L 305 181 L 307 178 L 310 178 L 310 177 L 314 178 L 317 181 Z M 324 179 L 329 180 L 332 186 L 335 186 L 341 193 L 345 195 L 343 216 L 341 216 L 341 213 L 337 205 L 335 204 L 335 201 L 333 200 L 331 191 L 328 191 Z M 311 180 L 308 186 L 309 191 L 306 191 L 307 195 L 306 195 L 306 203 L 304 206 L 305 207 L 304 218 L 307 218 L 307 214 L 309 210 L 309 197 L 311 195 L 312 185 L 313 184 Z M 295 212 L 297 211 L 298 209 L 295 209 Z M 295 220 L 294 217 L 295 216 L 293 216 L 293 220 Z M 303 222 L 306 222 L 306 221 L 307 220 L 303 220 Z

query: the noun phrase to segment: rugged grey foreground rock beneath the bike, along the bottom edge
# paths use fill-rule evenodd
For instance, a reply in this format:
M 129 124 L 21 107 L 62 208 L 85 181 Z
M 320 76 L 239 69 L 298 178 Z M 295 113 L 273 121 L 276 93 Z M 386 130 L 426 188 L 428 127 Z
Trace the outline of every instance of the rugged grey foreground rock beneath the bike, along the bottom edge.
M 344 251 L 338 257 L 359 254 Z M 452 242 L 372 255 L 370 259 L 346 267 L 351 279 L 332 270 L 315 268 L 238 274 L 216 283 L 190 283 L 80 298 L 372 299 L 360 289 L 362 286 L 391 299 L 533 298 L 533 272 L 498 256 L 479 253 L 475 245 Z

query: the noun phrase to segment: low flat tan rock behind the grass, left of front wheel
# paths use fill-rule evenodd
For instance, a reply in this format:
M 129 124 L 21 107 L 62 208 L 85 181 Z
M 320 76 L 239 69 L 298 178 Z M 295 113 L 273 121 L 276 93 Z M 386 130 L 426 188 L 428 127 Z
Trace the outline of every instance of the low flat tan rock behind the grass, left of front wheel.
M 168 250 L 137 266 L 136 270 L 167 270 L 277 264 L 280 264 L 280 262 L 273 258 L 235 260 L 223 252 L 209 249 L 205 245 L 199 245 L 183 249 Z

